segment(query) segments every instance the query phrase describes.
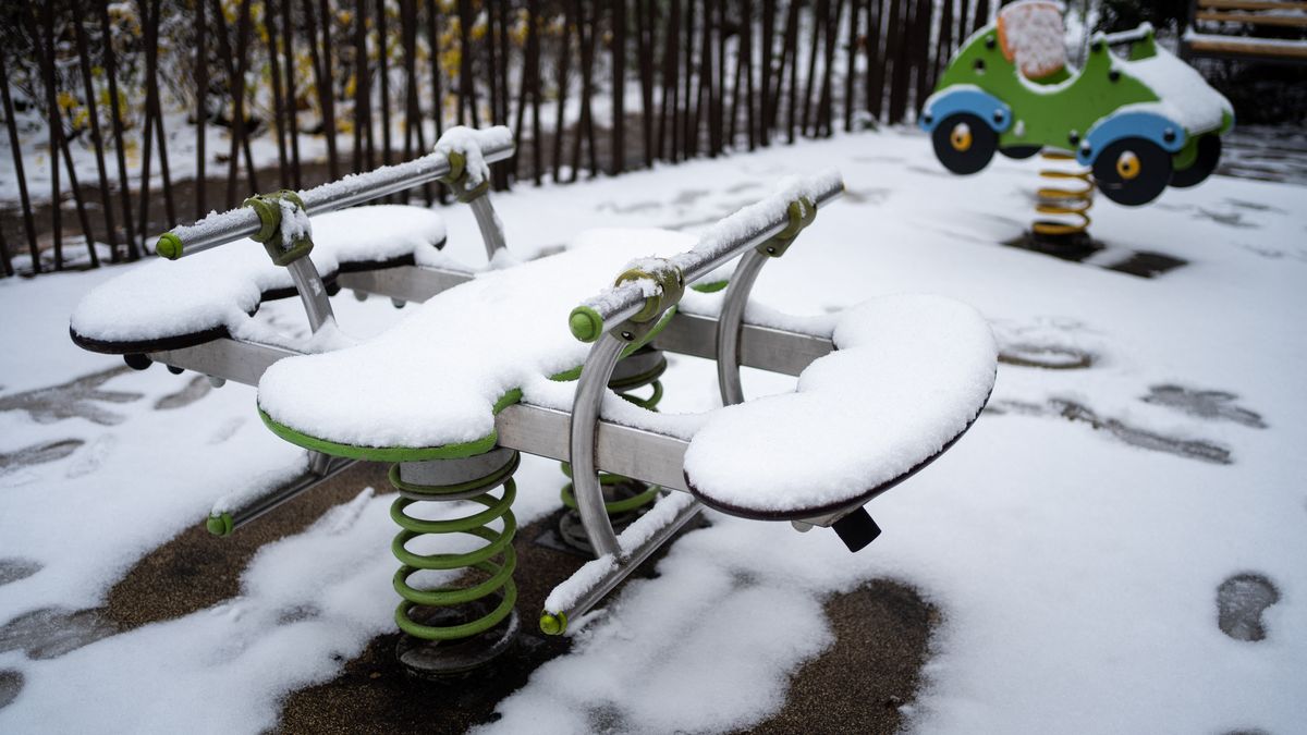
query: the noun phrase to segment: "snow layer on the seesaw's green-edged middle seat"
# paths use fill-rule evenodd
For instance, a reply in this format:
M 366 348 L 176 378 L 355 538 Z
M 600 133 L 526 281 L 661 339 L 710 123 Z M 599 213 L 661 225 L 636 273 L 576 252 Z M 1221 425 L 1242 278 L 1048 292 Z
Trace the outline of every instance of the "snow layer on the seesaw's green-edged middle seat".
M 672 255 L 681 245 L 657 231 L 609 231 L 481 273 L 374 340 L 277 362 L 259 383 L 259 407 L 282 425 L 345 445 L 480 439 L 494 430 L 494 405 L 506 394 L 584 362 L 589 345 L 567 330 L 578 294 L 612 282 L 633 258 Z M 332 398 L 340 395 L 350 398 Z

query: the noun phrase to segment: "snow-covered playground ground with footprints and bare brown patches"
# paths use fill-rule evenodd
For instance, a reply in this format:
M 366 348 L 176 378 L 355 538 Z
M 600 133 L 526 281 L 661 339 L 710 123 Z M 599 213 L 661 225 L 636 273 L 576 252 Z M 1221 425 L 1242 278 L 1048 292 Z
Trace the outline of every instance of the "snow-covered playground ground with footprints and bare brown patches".
M 904 708 L 915 730 L 1300 730 L 1307 188 L 1214 177 L 1137 209 L 1099 199 L 1097 238 L 1188 262 L 1151 280 L 1001 246 L 1031 216 L 1038 163 L 997 160 L 951 177 L 923 135 L 903 129 L 521 187 L 495 204 L 525 258 L 586 228 L 694 231 L 783 174 L 829 166 L 843 171 L 847 195 L 766 271 L 755 298 L 796 314 L 899 292 L 971 303 L 1008 356 L 991 411 L 938 462 L 869 504 L 885 534 L 860 553 L 829 531 L 714 515 L 676 541 L 657 578 L 609 600 L 572 651 L 502 701 L 503 717 L 485 730 L 576 732 L 596 711 L 640 732 L 748 727 L 779 710 L 789 674 L 831 645 L 822 600 L 873 578 L 908 583 L 942 612 L 925 685 Z M 480 263 L 471 213 L 446 213 L 447 252 Z M 0 323 L 0 630 L 33 611 L 58 620 L 58 611 L 102 604 L 127 569 L 200 522 L 216 498 L 299 462 L 259 422 L 252 388 L 204 392 L 193 375 L 158 368 L 73 383 L 122 365 L 78 350 L 67 331 L 78 297 L 119 272 L 0 281 L 9 315 Z M 269 305 L 260 319 L 302 330 L 295 307 Z M 412 313 L 348 296 L 336 307 L 356 336 Z M 1087 366 L 1019 365 L 1050 356 Z M 718 404 L 703 361 L 673 358 L 664 382 L 665 411 Z M 749 373 L 745 388 L 792 385 Z M 50 386 L 63 387 L 30 394 Z M 175 395 L 188 386 L 200 394 L 191 403 Z M 527 458 L 518 477 L 520 522 L 557 507 L 557 464 Z M 352 504 L 265 547 L 243 572 L 240 596 L 212 609 L 63 655 L 0 634 L 0 672 L 17 672 L 3 677 L 17 694 L 0 709 L 0 731 L 274 726 L 280 697 L 333 677 L 341 657 L 392 629 L 387 504 L 359 488 Z M 1261 585 L 1274 587 L 1265 596 L 1276 602 L 1260 617 L 1244 613 L 1239 628 L 1247 633 L 1260 625 L 1261 640 L 1218 625 L 1218 589 L 1238 575 L 1252 575 L 1233 585 L 1252 608 Z M 312 613 L 288 615 L 305 599 Z M 857 672 L 850 676 L 856 687 Z

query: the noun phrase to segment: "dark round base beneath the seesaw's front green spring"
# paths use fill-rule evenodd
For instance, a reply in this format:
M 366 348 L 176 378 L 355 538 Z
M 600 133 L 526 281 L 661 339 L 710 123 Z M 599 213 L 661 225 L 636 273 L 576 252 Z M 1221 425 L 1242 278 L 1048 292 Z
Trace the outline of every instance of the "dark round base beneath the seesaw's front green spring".
M 491 600 L 498 598 L 491 596 Z M 410 615 L 423 625 L 455 625 L 484 615 L 491 609 L 482 600 L 456 608 L 421 608 Z M 400 636 L 395 645 L 395 657 L 400 666 L 418 679 L 440 680 L 477 671 L 505 651 L 518 640 L 521 624 L 514 609 L 498 625 L 485 633 L 460 641 L 425 641 L 413 636 Z

